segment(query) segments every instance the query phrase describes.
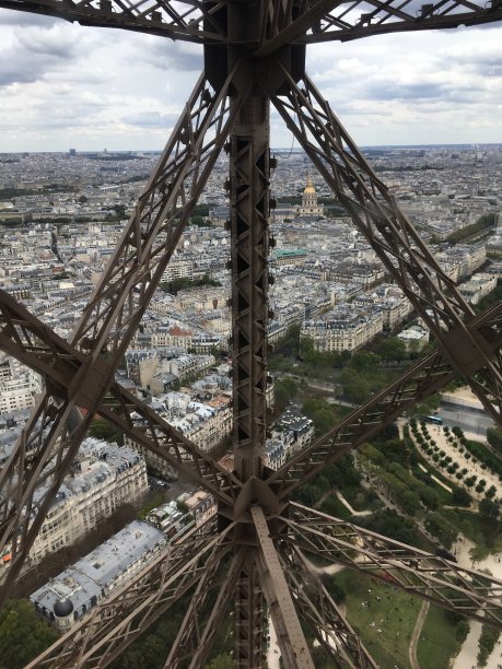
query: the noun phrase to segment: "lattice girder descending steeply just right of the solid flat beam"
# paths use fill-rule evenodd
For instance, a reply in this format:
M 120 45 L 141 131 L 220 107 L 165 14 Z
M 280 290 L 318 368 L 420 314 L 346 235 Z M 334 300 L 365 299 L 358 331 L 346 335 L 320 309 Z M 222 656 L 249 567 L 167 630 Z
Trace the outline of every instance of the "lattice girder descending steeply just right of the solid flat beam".
M 302 621 L 308 624 L 337 667 L 377 669 L 378 665 L 332 600 L 322 578 L 313 575 L 302 553 L 288 544 L 287 550 L 279 553 L 279 559 Z

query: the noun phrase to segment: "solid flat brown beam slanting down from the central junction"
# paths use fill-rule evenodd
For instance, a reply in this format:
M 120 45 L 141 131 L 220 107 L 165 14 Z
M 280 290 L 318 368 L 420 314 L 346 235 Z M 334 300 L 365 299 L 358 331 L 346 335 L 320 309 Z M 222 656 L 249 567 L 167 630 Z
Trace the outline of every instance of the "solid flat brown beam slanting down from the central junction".
M 252 506 L 250 515 L 258 539 L 256 562 L 260 585 L 267 599 L 282 659 L 288 669 L 314 669 L 284 572 L 270 538 L 267 518 L 260 506 Z

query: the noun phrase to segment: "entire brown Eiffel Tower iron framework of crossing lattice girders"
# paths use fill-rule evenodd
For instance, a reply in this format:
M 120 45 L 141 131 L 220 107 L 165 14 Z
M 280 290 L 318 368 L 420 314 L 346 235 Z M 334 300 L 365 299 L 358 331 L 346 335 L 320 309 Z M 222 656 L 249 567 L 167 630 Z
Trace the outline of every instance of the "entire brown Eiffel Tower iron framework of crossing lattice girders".
M 501 0 L 0 0 L 0 8 L 188 40 L 201 46 L 205 60 L 69 341 L 0 291 L 0 349 L 45 379 L 0 471 L 0 549 L 12 551 L 1 598 L 19 576 L 97 411 L 209 491 L 218 503 L 217 518 L 170 544 L 31 666 L 105 667 L 184 597 L 186 613 L 165 667 L 202 667 L 231 611 L 236 667 L 262 666 L 269 619 L 288 668 L 314 666 L 306 629 L 336 666 L 376 667 L 313 575 L 312 559 L 383 583 L 392 578 L 411 595 L 501 629 L 501 580 L 291 497 L 327 465 L 455 377 L 470 383 L 502 425 L 502 304 L 474 313 L 305 72 L 308 44 L 501 21 Z M 270 104 L 437 344 L 277 471 L 264 465 L 275 167 Z M 115 382 L 117 362 L 222 150 L 230 159 L 232 472 Z

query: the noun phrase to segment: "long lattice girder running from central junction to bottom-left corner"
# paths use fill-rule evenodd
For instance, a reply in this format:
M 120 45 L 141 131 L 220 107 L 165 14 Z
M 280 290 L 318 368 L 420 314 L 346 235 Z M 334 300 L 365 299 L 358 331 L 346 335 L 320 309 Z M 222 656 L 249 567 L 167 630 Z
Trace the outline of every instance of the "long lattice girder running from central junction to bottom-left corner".
M 166 547 L 112 597 L 26 669 L 106 667 L 184 594 L 231 555 L 233 526 L 214 533 L 213 520 Z

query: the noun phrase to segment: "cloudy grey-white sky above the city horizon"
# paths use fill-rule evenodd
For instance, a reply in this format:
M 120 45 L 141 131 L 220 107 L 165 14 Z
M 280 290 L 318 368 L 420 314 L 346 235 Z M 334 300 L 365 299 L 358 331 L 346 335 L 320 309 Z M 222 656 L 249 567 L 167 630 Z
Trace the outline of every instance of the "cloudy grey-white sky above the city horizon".
M 0 152 L 159 150 L 200 47 L 0 10 Z M 502 142 L 502 23 L 307 48 L 361 145 Z M 272 145 L 291 137 L 272 116 Z

